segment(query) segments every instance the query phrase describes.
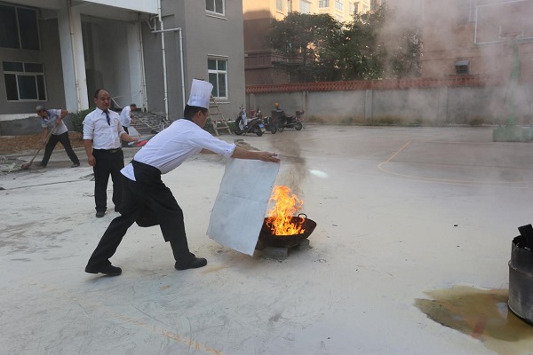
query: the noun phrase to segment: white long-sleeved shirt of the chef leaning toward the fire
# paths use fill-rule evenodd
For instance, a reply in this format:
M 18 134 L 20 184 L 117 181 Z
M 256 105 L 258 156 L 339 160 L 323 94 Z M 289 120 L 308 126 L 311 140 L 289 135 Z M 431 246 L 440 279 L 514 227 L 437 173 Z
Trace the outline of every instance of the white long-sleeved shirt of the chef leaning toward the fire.
M 148 140 L 146 146 L 135 154 L 133 160 L 153 166 L 162 174 L 166 174 L 178 168 L 187 158 L 199 154 L 202 149 L 229 158 L 234 154 L 235 144 L 215 138 L 195 122 L 182 119 L 173 122 Z M 121 172 L 123 176 L 136 181 L 131 164 L 126 165 Z

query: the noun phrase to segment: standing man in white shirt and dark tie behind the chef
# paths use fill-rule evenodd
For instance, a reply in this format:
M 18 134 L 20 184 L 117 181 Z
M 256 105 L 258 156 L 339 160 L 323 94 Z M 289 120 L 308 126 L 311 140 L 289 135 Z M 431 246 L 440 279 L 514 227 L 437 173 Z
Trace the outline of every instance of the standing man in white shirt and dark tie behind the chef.
M 120 210 L 122 201 L 122 174 L 124 154 L 121 139 L 136 142 L 123 130 L 120 116 L 109 110 L 111 98 L 104 89 L 94 93 L 96 109 L 84 119 L 84 148 L 87 162 L 94 171 L 94 201 L 96 217 L 104 217 L 107 210 L 107 183 L 109 176 L 113 180 L 113 203 L 115 211 Z

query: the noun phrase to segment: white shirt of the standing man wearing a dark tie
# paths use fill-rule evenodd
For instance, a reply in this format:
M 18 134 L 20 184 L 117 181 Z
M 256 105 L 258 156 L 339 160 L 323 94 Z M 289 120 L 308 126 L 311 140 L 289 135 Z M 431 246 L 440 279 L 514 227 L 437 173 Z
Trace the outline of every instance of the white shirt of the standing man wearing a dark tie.
M 109 122 L 104 111 L 96 108 L 84 119 L 84 139 L 92 139 L 93 149 L 117 149 L 122 146 L 120 136 L 125 133 L 120 116 L 108 111 Z

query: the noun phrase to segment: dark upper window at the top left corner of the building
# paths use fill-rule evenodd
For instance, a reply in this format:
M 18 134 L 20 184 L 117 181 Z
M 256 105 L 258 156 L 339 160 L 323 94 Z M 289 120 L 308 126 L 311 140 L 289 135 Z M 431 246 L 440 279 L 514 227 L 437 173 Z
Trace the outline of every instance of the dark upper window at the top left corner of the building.
M 36 10 L 0 5 L 0 47 L 36 51 L 41 48 Z

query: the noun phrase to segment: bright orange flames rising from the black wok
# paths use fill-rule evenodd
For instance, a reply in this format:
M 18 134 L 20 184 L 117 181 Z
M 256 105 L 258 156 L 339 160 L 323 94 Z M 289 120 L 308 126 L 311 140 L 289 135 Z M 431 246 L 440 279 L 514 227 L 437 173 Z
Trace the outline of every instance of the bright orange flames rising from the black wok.
M 267 226 L 274 235 L 294 235 L 306 232 L 302 228 L 305 220 L 299 217 L 296 222 L 294 216 L 304 206 L 304 201 L 299 200 L 296 194 L 290 194 L 287 186 L 274 186 L 269 202 L 274 202 L 274 207 L 268 211 Z

